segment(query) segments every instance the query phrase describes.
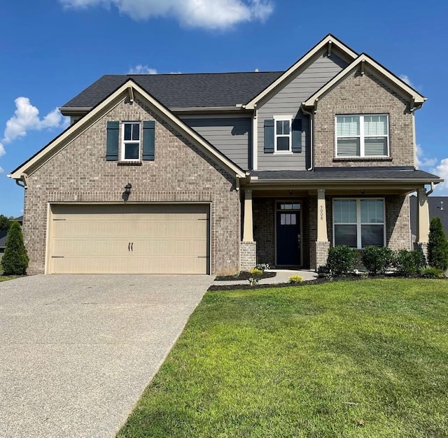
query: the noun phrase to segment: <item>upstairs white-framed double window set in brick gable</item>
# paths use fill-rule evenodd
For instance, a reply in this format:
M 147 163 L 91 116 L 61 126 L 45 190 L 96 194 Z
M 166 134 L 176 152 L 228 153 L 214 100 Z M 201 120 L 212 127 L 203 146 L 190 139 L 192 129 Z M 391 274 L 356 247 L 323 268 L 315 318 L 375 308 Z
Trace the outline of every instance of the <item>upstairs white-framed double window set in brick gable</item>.
M 388 115 L 337 115 L 337 157 L 388 157 Z

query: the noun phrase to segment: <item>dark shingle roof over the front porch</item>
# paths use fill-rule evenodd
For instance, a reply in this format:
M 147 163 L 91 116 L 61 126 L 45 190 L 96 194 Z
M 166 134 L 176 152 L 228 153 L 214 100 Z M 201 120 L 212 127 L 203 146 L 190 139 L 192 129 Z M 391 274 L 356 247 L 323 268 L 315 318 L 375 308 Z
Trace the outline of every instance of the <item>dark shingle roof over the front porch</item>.
M 423 179 L 435 181 L 437 176 L 428 174 L 422 170 L 414 170 L 413 167 L 321 167 L 314 171 L 300 170 L 276 170 L 253 171 L 251 175 L 258 176 L 262 180 L 353 180 L 359 179 Z

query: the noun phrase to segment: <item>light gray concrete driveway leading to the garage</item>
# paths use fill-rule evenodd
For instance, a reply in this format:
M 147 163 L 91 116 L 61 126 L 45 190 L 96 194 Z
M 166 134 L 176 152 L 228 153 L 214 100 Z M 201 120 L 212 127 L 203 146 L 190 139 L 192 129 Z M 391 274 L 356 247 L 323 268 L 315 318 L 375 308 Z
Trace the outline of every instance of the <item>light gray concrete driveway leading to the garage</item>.
M 114 437 L 211 276 L 0 283 L 0 437 Z

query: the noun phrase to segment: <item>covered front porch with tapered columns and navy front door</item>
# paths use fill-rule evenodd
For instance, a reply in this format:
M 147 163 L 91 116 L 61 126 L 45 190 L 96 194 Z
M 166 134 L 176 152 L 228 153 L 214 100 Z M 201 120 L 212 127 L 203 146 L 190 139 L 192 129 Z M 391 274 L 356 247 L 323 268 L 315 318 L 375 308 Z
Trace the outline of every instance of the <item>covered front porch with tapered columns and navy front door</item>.
M 398 175 L 395 169 L 372 169 L 377 178 L 370 179 L 365 169 L 335 170 L 297 171 L 300 178 L 288 181 L 278 178 L 280 171 L 254 172 L 241 187 L 241 270 L 257 263 L 316 270 L 326 263 L 328 248 L 342 244 L 414 249 L 409 225 L 412 192 L 419 199 L 415 248 L 426 254 L 431 190 L 425 185 L 439 178 L 413 169 Z

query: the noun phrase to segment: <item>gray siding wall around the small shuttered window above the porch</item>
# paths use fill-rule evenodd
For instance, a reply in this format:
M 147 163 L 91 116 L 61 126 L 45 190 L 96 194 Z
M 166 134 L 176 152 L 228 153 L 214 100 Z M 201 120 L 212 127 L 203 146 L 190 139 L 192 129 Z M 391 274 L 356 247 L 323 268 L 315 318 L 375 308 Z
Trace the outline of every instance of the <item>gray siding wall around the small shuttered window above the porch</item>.
M 290 77 L 283 86 L 268 94 L 258 104 L 258 169 L 305 170 L 309 167 L 309 116 L 300 111 L 300 105 L 347 65 L 348 63 L 335 51 L 328 56 L 328 50 L 322 50 L 304 64 L 298 73 Z M 293 115 L 293 117 L 302 118 L 302 152 L 293 153 L 293 155 L 264 152 L 265 120 L 272 119 L 274 115 Z

